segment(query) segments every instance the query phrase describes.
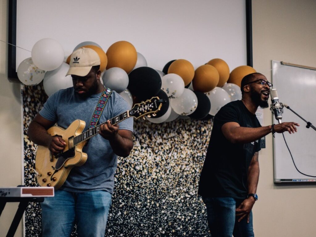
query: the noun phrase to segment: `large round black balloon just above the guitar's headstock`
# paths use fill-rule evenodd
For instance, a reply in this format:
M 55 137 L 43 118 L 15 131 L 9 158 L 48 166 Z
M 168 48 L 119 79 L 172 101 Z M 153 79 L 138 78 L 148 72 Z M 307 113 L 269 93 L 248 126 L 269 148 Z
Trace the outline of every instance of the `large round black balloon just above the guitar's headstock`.
M 139 67 L 128 75 L 128 89 L 139 100 L 147 100 L 155 96 L 161 89 L 159 73 L 150 67 Z

